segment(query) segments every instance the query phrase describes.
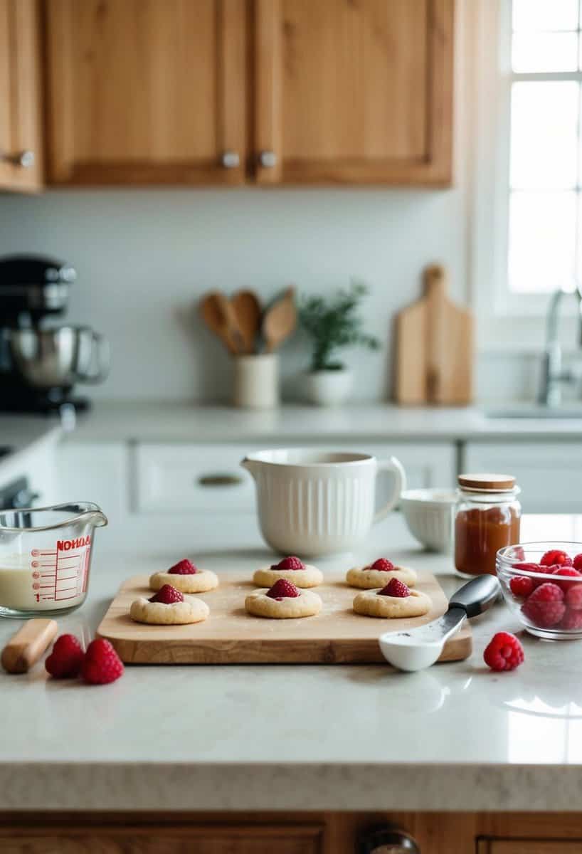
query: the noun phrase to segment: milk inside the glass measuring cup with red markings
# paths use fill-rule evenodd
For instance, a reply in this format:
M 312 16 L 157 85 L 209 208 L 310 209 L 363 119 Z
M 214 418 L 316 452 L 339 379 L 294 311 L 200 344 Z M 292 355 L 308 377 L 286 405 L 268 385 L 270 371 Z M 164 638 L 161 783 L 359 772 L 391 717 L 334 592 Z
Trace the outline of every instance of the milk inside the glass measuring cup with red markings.
M 58 545 L 55 549 L 33 549 L 30 554 L 0 555 L 0 607 L 54 611 L 83 602 L 89 542 L 70 554 L 61 553 Z

